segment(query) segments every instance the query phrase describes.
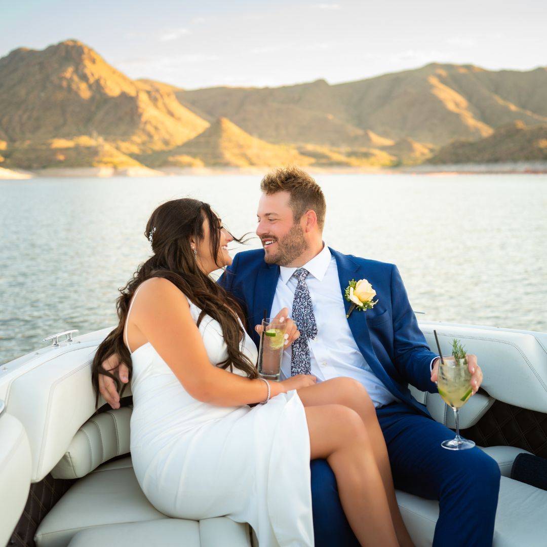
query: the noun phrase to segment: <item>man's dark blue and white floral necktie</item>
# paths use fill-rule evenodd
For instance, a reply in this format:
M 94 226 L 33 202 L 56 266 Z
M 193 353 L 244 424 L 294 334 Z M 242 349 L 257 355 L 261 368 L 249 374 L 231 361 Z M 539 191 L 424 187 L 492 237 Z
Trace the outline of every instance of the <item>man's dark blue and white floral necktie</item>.
M 293 274 L 298 281 L 294 292 L 293 300 L 293 321 L 300 331 L 300 337 L 293 342 L 292 357 L 290 358 L 290 374 L 310 374 L 310 348 L 308 339 L 315 339 L 317 336 L 317 324 L 313 315 L 313 306 L 310 298 L 310 291 L 306 285 L 306 277 L 309 271 L 299 268 Z

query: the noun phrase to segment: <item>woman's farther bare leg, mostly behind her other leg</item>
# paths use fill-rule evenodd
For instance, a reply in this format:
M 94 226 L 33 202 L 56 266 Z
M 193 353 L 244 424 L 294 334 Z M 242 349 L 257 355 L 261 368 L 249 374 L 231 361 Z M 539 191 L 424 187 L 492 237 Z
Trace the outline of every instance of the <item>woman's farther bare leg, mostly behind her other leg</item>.
M 397 498 L 395 498 L 386 442 L 376 418 L 373 401 L 371 401 L 366 389 L 357 380 L 333 378 L 314 386 L 299 389 L 298 394 L 305 407 L 341 404 L 357 412 L 365 424 L 366 432 L 373 447 L 376 465 L 380 470 L 399 544 L 404 547 L 414 545 L 403 522 Z

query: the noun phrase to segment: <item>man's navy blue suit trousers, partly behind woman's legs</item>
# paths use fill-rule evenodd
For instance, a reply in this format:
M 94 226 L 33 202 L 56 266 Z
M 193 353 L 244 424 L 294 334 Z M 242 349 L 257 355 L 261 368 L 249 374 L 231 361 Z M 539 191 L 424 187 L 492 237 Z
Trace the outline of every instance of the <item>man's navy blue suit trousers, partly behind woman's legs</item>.
M 492 545 L 499 492 L 498 464 L 478 448 L 446 450 L 452 430 L 404 403 L 376 411 L 395 488 L 439 501 L 433 545 Z M 316 547 L 359 544 L 340 505 L 336 480 L 323 459 L 311 462 Z

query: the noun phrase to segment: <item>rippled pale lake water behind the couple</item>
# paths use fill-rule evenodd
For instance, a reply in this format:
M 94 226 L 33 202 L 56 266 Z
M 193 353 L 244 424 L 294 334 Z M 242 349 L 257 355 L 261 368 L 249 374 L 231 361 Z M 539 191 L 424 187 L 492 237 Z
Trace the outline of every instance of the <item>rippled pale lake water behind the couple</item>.
M 117 322 L 160 202 L 210 202 L 253 232 L 260 176 L 0 181 L 0 363 L 68 328 Z M 547 176 L 319 175 L 324 239 L 395 263 L 427 321 L 547 331 Z M 259 247 L 252 240 L 247 248 Z M 233 252 L 241 249 L 234 249 Z

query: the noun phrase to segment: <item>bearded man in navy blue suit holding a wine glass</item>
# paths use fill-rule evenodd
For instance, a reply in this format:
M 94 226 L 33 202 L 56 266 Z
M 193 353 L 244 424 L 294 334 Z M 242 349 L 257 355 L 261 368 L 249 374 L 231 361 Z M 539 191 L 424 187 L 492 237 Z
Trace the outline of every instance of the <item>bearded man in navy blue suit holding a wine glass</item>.
M 439 500 L 434 545 L 492 545 L 498 465 L 478 448 L 443 449 L 441 441 L 453 432 L 412 398 L 409 383 L 437 392 L 438 358 L 418 328 L 397 267 L 324 245 L 325 199 L 304 171 L 278 169 L 260 188 L 257 235 L 263 249 L 237 253 L 219 280 L 247 312 L 255 343 L 254 326 L 265 310 L 269 317 L 283 307 L 293 310 L 301 336 L 284 353 L 282 376 L 304 372 L 318 381 L 360 381 L 377 409 L 395 487 Z M 343 298 L 345 289 L 360 279 L 376 291 L 377 303 L 346 318 L 351 303 Z M 476 392 L 482 373 L 475 356 L 468 361 Z M 312 462 L 312 501 L 316 545 L 357 545 L 324 460 Z

